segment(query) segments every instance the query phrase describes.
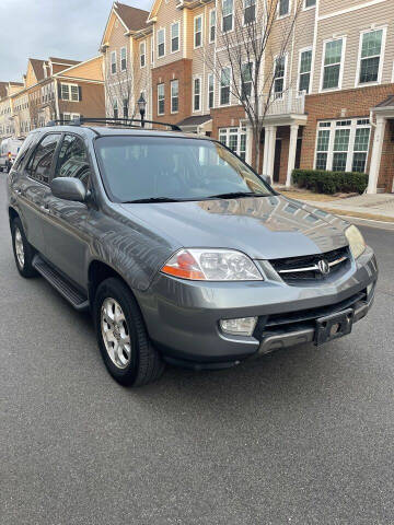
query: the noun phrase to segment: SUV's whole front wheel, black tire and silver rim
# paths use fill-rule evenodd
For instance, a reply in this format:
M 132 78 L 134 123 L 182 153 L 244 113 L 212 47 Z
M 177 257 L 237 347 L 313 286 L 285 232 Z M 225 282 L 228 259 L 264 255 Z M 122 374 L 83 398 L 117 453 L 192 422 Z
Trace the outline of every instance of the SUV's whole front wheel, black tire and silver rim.
M 120 279 L 103 281 L 94 299 L 99 347 L 109 374 L 121 385 L 158 380 L 163 361 L 152 347 L 138 304 Z

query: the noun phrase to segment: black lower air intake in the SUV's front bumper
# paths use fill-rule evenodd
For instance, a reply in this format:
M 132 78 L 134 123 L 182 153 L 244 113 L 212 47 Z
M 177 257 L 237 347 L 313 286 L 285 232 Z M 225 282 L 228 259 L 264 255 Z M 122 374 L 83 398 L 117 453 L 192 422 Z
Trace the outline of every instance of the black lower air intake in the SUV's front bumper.
M 336 314 L 346 308 L 356 307 L 359 302 L 367 301 L 367 290 L 356 293 L 339 303 L 320 306 L 317 308 L 306 308 L 285 314 L 265 315 L 258 318 L 254 337 L 262 339 L 273 334 L 285 334 L 287 331 L 310 328 L 315 326 L 316 319 L 326 315 Z

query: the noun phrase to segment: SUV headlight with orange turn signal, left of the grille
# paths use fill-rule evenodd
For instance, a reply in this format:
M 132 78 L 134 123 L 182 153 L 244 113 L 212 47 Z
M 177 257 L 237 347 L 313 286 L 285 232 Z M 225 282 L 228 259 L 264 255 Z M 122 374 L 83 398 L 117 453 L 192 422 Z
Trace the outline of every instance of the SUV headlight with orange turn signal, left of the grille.
M 197 281 L 263 281 L 252 259 L 233 249 L 179 249 L 161 271 Z

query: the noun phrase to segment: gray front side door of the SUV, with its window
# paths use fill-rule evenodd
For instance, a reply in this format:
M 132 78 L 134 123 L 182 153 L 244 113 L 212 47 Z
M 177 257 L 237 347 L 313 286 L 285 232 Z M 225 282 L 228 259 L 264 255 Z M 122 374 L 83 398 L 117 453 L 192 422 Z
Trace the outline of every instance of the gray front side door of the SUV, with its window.
M 91 165 L 81 137 L 65 135 L 54 168 L 55 177 L 76 177 L 90 188 Z M 45 243 L 49 246 L 48 258 L 76 284 L 84 288 L 89 222 L 96 212 L 84 202 L 62 200 L 51 192 L 46 196 L 46 207 L 50 218 L 44 230 Z

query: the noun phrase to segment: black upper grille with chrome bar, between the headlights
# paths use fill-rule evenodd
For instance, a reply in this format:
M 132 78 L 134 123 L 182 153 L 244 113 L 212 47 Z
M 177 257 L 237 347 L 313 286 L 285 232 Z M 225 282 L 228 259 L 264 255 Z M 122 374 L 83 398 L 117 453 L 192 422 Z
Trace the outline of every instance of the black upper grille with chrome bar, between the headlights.
M 327 262 L 329 268 L 327 273 L 323 273 L 318 269 L 317 265 L 321 260 Z M 350 266 L 350 255 L 349 248 L 344 246 L 324 254 L 274 259 L 270 260 L 270 264 L 285 282 L 296 284 L 298 281 L 323 280 L 338 273 L 338 271 Z

